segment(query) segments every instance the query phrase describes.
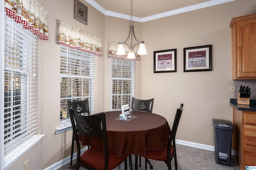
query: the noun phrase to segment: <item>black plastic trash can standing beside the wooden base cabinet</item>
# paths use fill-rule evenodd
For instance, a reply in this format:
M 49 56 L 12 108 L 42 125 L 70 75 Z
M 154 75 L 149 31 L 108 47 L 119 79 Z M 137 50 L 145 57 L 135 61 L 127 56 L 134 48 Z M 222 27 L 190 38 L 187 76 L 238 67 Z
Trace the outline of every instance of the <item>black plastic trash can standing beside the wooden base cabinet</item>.
M 215 131 L 215 162 L 230 166 L 233 123 L 223 119 L 212 119 L 212 123 Z

